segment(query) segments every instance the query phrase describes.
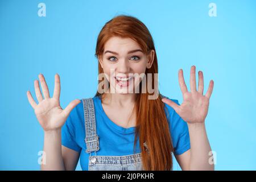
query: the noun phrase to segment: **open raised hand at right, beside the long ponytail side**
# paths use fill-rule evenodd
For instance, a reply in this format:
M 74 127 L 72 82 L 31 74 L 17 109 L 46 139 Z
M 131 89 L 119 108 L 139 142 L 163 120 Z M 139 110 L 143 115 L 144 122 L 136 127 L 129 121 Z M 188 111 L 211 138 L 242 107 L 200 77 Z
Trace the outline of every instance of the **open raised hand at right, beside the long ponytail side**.
M 183 77 L 183 70 L 179 70 L 179 85 L 183 94 L 183 103 L 177 105 L 168 98 L 163 98 L 162 101 L 170 105 L 180 117 L 188 123 L 203 123 L 207 117 L 209 100 L 213 90 L 213 80 L 210 80 L 209 87 L 205 96 L 204 92 L 204 77 L 203 72 L 199 71 L 199 84 L 196 90 L 196 67 L 191 67 L 190 72 L 190 88 L 188 92 L 187 86 Z

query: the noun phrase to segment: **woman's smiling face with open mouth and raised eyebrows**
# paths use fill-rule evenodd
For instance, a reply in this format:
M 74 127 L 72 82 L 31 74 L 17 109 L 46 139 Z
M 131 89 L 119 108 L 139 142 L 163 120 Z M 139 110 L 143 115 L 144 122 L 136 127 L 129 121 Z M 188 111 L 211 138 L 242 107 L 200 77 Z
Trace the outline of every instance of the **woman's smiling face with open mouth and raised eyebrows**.
M 102 60 L 99 61 L 115 93 L 135 93 L 141 82 L 139 75 L 151 67 L 154 54 L 154 50 L 148 55 L 143 53 L 133 39 L 114 36 L 105 43 Z

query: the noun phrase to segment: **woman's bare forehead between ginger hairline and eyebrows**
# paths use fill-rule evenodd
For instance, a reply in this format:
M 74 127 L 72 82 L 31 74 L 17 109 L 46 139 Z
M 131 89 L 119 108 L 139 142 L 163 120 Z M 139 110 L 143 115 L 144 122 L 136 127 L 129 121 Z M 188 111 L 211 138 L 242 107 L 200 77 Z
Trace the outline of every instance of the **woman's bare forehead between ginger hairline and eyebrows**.
M 133 49 L 141 49 L 141 46 L 131 38 L 120 38 L 114 36 L 110 38 L 104 46 L 104 51 L 114 51 L 118 53 L 126 53 Z

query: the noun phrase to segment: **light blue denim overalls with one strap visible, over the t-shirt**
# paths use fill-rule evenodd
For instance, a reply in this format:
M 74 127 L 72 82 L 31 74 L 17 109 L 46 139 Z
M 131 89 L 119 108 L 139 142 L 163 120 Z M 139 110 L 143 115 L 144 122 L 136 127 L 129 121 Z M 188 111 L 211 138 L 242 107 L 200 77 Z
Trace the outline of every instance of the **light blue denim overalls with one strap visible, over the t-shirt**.
M 85 143 L 86 153 L 89 156 L 89 171 L 113 170 L 113 171 L 137 171 L 143 170 L 141 153 L 123 156 L 99 156 L 96 151 L 100 150 L 99 136 L 96 132 L 96 117 L 92 98 L 82 99 L 85 119 Z M 145 146 L 146 143 L 144 143 Z M 95 155 L 92 156 L 92 152 Z

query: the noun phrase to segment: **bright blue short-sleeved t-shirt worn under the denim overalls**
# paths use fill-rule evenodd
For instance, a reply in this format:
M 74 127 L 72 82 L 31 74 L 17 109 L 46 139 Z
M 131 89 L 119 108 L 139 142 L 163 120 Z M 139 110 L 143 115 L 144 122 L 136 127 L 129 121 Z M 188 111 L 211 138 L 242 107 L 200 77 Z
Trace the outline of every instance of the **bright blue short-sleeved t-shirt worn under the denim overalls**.
M 172 101 L 179 104 L 177 100 Z M 93 97 L 93 103 L 96 116 L 97 135 L 100 137 L 100 150 L 96 151 L 97 155 L 112 156 L 134 154 L 135 127 L 126 129 L 111 121 L 102 108 L 100 97 Z M 166 106 L 164 111 L 171 132 L 174 154 L 183 154 L 183 152 L 190 148 L 188 125 L 175 110 L 172 109 L 172 107 L 167 104 L 164 105 Z M 90 154 L 85 152 L 86 144 L 84 139 L 84 107 L 81 100 L 81 102 L 71 111 L 67 121 L 61 129 L 61 143 L 63 146 L 80 153 L 81 168 L 82 170 L 87 171 Z M 141 152 L 141 148 L 139 147 L 139 140 L 137 139 L 135 154 L 138 154 L 139 152 Z M 94 152 L 92 152 L 92 155 L 95 155 Z

